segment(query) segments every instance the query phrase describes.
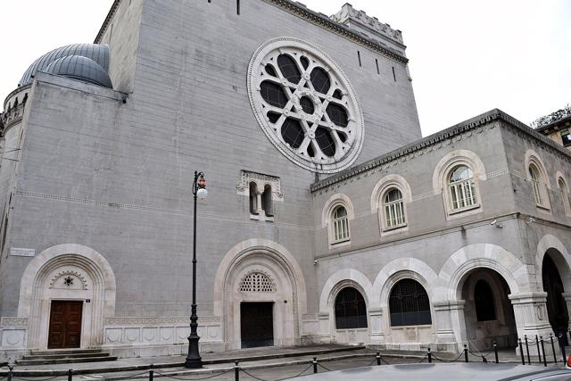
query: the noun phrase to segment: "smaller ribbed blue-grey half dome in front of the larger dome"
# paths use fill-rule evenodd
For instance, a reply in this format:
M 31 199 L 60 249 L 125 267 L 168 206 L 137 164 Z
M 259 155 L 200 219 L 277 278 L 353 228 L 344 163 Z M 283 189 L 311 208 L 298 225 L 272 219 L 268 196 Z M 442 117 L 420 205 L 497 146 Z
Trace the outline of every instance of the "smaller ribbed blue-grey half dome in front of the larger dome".
M 71 79 L 84 80 L 94 85 L 113 87 L 109 74 L 103 70 L 99 63 L 80 55 L 68 55 L 67 57 L 58 58 L 42 71 Z

